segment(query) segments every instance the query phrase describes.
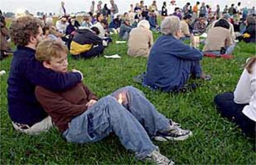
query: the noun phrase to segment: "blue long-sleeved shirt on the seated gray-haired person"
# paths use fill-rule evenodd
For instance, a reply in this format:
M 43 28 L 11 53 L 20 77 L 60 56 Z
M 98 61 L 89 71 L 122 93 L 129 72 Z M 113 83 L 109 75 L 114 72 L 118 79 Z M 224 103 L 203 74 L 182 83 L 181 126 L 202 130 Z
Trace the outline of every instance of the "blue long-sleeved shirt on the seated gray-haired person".
M 192 61 L 202 57 L 200 50 L 179 39 L 161 36 L 150 51 L 144 83 L 165 92 L 182 87 L 189 78 Z

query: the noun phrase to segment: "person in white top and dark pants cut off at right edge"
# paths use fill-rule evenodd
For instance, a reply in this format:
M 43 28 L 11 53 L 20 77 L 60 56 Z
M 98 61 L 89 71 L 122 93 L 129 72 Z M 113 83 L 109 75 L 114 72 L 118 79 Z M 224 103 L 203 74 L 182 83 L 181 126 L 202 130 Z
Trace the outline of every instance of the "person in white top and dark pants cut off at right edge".
M 216 95 L 214 102 L 221 116 L 236 123 L 245 135 L 255 139 L 256 57 L 247 60 L 234 93 Z

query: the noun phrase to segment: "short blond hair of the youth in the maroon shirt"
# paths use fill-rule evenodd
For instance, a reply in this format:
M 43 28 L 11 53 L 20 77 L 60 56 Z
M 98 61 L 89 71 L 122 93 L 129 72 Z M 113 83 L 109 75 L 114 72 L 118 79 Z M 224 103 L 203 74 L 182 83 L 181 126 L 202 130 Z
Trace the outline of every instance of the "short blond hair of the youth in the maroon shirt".
M 36 60 L 40 62 L 50 62 L 51 57 L 61 58 L 60 52 L 69 53 L 67 46 L 54 39 L 45 39 L 36 47 Z

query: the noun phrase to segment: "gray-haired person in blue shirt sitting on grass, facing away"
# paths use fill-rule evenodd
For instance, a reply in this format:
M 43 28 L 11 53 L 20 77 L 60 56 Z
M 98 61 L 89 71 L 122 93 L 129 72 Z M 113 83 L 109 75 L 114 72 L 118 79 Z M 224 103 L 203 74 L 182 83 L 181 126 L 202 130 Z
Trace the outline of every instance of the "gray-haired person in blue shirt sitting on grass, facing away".
M 150 51 L 143 86 L 163 92 L 181 92 L 186 90 L 190 74 L 194 78 L 210 79 L 200 66 L 202 52 L 179 40 L 181 26 L 178 17 L 164 18 L 161 33 L 163 36 Z

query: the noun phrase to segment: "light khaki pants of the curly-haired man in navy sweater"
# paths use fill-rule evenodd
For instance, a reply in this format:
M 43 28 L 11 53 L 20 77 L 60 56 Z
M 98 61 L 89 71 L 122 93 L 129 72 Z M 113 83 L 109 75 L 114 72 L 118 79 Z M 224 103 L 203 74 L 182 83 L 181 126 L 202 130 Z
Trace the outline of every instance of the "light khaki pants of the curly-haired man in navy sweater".
M 12 126 L 14 126 L 14 128 L 19 132 L 29 134 L 29 135 L 38 135 L 41 132 L 47 132 L 53 126 L 53 123 L 51 121 L 51 117 L 48 116 L 42 121 L 35 123 L 32 127 L 25 125 L 27 129 L 22 129 L 20 124 L 14 123 L 14 122 L 12 122 Z

